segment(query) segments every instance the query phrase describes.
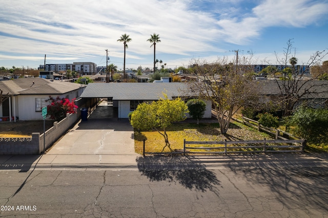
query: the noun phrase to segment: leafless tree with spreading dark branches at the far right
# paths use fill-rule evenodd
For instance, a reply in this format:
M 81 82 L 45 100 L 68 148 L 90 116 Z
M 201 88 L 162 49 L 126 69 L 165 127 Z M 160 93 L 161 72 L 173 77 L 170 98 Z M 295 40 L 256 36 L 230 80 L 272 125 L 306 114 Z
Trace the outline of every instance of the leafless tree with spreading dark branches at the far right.
M 302 64 L 305 66 L 305 69 L 300 69 L 295 66 L 298 59 L 296 58 L 296 49 L 293 47 L 293 39 L 289 39 L 286 45 L 282 58 L 279 58 L 276 52 L 275 55 L 280 66 L 288 69 L 288 63 L 290 63 L 292 69 L 290 71 L 285 70 L 280 78 L 274 78 L 279 88 L 278 103 L 282 107 L 283 116 L 290 116 L 301 99 L 315 99 L 320 94 L 328 92 L 327 89 L 322 87 L 326 86 L 327 83 L 318 82 L 318 78 L 322 75 L 321 73 L 312 77 L 306 75 L 306 73 L 310 72 L 312 66 L 315 66 L 327 55 L 327 52 L 325 50 L 315 52 L 311 55 L 308 62 Z

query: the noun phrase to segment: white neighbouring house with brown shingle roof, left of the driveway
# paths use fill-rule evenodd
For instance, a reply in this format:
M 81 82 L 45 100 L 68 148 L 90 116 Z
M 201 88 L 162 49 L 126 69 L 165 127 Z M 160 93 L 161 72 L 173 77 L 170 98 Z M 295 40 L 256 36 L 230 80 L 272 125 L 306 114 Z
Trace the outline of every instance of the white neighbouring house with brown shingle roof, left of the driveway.
M 0 90 L 9 97 L 0 105 L 0 118 L 13 120 L 42 120 L 42 107 L 47 106 L 49 96 L 78 99 L 85 85 L 43 78 L 18 78 L 0 81 Z

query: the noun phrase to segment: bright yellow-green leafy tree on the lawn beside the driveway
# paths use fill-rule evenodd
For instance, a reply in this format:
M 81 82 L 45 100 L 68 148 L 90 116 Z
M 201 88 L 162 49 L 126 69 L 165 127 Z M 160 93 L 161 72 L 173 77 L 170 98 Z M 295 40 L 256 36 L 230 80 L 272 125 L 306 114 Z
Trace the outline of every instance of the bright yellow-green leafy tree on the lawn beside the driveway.
M 173 122 L 185 120 L 188 107 L 180 98 L 169 100 L 166 94 L 163 95 L 164 98 L 160 98 L 158 101 L 139 104 L 131 114 L 131 125 L 141 130 L 157 130 L 165 140 L 162 151 L 166 147 L 172 151 L 166 129 Z

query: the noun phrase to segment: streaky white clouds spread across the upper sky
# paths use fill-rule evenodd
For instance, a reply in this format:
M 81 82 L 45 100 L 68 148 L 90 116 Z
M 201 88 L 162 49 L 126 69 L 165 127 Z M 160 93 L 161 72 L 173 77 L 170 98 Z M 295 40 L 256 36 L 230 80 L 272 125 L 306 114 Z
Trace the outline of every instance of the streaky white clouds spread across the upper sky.
M 215 7 L 201 10 L 204 3 Z M 177 61 L 172 57 L 177 63 L 194 54 L 211 58 L 224 51 L 225 43 L 247 45 L 271 26 L 313 24 L 328 11 L 327 3 L 308 0 L 260 1 L 244 12 L 242 4 L 241 0 L 20 0 L 19 4 L 2 0 L 0 52 L 21 53 L 22 58 L 51 54 L 65 60 L 103 56 L 108 49 L 112 58 L 122 58 L 123 45 L 117 39 L 127 33 L 132 38 L 127 58 L 144 61 L 153 54 L 147 39 L 158 33 L 162 41 L 156 54 L 179 55 Z

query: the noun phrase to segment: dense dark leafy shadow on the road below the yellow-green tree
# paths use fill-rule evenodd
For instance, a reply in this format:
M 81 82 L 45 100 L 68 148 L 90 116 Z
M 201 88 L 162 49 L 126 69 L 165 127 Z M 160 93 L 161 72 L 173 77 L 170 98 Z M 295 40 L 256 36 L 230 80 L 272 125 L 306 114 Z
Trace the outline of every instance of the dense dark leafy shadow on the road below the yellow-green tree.
M 152 182 L 179 183 L 188 189 L 202 192 L 210 190 L 218 195 L 217 187 L 220 185 L 220 181 L 215 173 L 193 159 L 188 156 L 150 156 L 138 157 L 136 161 L 142 176 L 148 177 Z

